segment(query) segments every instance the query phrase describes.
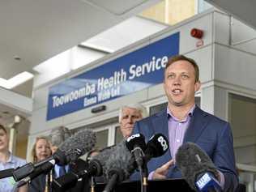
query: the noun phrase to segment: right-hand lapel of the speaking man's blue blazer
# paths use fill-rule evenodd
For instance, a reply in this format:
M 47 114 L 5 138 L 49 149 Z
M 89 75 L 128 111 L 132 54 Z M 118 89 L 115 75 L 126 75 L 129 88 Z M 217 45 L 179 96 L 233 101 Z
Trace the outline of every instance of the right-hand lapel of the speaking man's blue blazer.
M 202 134 L 203 130 L 207 125 L 207 113 L 204 113 L 201 109 L 196 107 L 194 109 L 194 114 L 190 120 L 190 126 L 186 130 L 186 134 L 184 137 L 184 142 L 192 142 L 195 143 L 200 134 Z

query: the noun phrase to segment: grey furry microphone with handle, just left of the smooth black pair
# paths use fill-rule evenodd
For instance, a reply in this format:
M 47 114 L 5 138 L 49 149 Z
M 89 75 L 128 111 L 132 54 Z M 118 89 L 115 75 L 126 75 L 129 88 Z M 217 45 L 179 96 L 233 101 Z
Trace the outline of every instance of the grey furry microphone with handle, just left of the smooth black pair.
M 104 192 L 112 191 L 117 182 L 128 179 L 134 169 L 134 157 L 128 151 L 126 141 L 118 143 L 105 163 L 104 173 L 108 183 Z

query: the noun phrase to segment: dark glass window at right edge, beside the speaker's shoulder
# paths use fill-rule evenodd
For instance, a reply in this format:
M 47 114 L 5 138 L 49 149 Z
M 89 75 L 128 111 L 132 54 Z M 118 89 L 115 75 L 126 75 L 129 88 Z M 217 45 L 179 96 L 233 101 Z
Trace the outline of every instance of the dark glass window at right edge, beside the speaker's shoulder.
M 233 129 L 236 161 L 256 165 L 256 100 L 229 94 L 228 121 Z

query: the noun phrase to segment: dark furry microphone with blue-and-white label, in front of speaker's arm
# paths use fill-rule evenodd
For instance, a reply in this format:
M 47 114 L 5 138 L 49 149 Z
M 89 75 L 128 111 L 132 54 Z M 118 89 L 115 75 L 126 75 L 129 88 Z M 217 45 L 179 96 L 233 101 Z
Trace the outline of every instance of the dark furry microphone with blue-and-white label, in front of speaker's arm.
M 222 191 L 219 175 L 207 153 L 195 143 L 185 143 L 178 148 L 176 164 L 189 186 L 196 191 Z

